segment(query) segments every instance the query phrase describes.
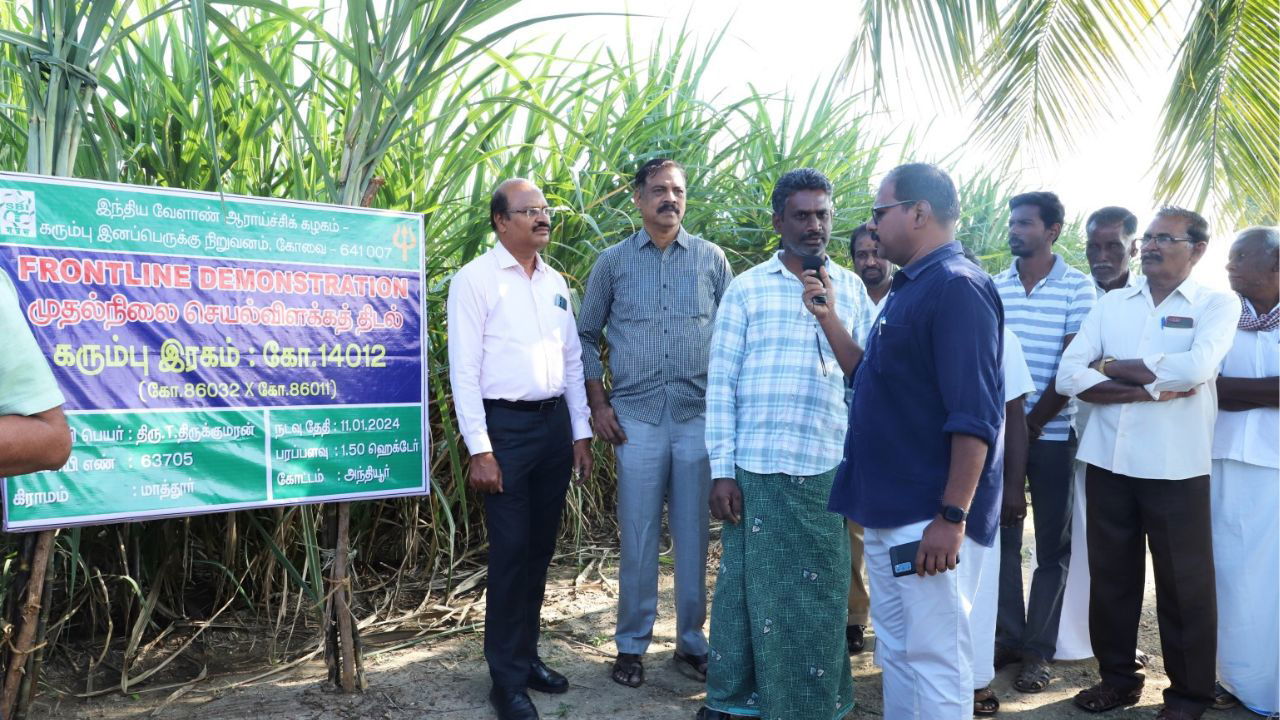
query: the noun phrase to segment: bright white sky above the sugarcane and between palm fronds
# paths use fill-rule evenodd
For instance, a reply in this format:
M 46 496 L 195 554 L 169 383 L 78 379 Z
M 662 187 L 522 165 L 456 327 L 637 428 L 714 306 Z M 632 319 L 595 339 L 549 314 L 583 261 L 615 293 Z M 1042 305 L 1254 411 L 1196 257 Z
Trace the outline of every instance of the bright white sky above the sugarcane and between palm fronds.
M 792 4 L 765 0 L 526 0 L 499 19 L 511 22 L 518 17 L 559 13 L 628 12 L 634 15 L 630 19 L 573 18 L 534 31 L 556 37 L 572 33 L 575 46 L 617 42 L 627 22 L 639 47 L 650 45 L 664 27 L 671 35 L 686 26 L 699 40 L 709 40 L 727 27 L 707 73 L 712 83 L 708 91 L 745 92 L 751 83 L 759 91 L 788 91 L 795 96 L 806 94 L 814 82 L 824 83 L 841 67 L 860 29 L 860 5 L 856 0 L 794 0 Z M 1175 1 L 1174 6 L 1188 4 Z M 1172 17 L 1174 27 L 1184 27 L 1185 12 Z M 1172 54 L 1166 58 L 1157 58 L 1147 74 L 1135 77 L 1133 92 L 1110 102 L 1114 117 L 1102 120 L 1093 132 L 1083 133 L 1060 158 L 1023 156 L 1016 187 L 1056 192 L 1069 218 L 1083 219 L 1103 205 L 1123 205 L 1138 215 L 1142 232 L 1156 209 L 1152 158 L 1160 109 L 1172 77 Z M 929 155 L 924 159 L 950 155 L 946 169 L 954 174 L 963 176 L 965 170 L 983 167 L 987 154 L 969 137 L 977 104 L 936 106 L 927 92 L 919 91 L 918 68 L 904 61 L 893 73 L 888 79 L 886 111 L 876 117 L 873 131 L 897 142 L 914 131 L 918 147 Z M 886 156 L 892 161 L 897 154 Z M 1197 279 L 1226 287 L 1222 265 L 1229 242 L 1229 232 L 1213 232 L 1213 242 L 1196 268 Z

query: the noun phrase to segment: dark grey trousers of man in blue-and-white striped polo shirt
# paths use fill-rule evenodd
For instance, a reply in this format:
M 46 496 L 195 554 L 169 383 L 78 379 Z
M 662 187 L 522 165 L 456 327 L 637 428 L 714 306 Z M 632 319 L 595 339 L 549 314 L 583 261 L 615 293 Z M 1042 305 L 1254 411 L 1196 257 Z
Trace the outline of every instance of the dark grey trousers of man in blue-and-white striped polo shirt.
M 1066 441 L 1037 439 L 1027 455 L 1036 521 L 1036 571 L 1023 605 L 1023 524 L 1000 529 L 1000 601 L 996 644 L 1052 660 L 1071 561 L 1075 432 Z

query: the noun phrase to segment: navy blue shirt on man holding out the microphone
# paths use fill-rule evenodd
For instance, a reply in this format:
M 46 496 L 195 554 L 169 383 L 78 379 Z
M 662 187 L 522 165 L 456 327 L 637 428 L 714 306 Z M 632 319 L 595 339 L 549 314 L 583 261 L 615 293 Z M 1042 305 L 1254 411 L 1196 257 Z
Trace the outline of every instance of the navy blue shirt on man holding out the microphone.
M 854 375 L 845 457 L 828 507 L 864 528 L 932 519 L 942 506 L 951 434 L 987 442 L 966 534 L 1000 529 L 1005 311 L 996 283 L 945 245 L 893 275 Z

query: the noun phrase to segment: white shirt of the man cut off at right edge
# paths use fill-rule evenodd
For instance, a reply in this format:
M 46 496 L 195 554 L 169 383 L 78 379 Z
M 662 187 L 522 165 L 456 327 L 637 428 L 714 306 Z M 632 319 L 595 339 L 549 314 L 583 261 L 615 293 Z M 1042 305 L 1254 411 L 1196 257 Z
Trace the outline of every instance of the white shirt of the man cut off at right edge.
M 1248 302 L 1248 300 L 1245 300 Z M 1280 375 L 1280 329 L 1235 331 L 1235 342 L 1222 360 L 1228 378 Z M 1219 410 L 1213 428 L 1213 460 L 1236 460 L 1262 468 L 1280 468 L 1280 409 Z

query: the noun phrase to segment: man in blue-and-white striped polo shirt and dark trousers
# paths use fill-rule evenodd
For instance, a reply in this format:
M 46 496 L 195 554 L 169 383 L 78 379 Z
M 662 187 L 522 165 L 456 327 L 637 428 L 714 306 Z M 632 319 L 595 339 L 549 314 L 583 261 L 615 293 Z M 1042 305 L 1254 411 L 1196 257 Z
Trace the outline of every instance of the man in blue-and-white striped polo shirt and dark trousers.
M 1074 404 L 1053 388 L 1062 351 L 1093 307 L 1096 292 L 1088 275 L 1053 252 L 1065 210 L 1052 192 L 1027 192 L 1009 201 L 1009 249 L 1014 263 L 996 275 L 1005 305 L 1005 323 L 1018 336 L 1036 392 L 1027 397 L 1030 447 L 1027 478 L 1036 507 L 1036 573 L 1023 603 L 1023 523 L 1027 498 L 1007 493 L 1001 528 L 1000 609 L 996 667 L 1021 662 L 1014 688 L 1038 693 L 1048 687 L 1057 643 L 1062 589 L 1071 557 L 1073 461 L 1076 437 Z

